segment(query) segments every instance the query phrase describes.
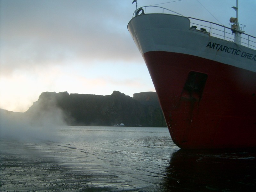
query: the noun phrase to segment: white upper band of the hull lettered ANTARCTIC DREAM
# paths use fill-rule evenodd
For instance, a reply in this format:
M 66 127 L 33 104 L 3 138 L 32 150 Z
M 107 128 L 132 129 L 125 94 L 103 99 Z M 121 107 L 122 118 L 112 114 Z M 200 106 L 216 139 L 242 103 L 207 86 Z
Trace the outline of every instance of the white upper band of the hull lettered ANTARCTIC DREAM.
M 144 14 L 128 24 L 141 55 L 150 51 L 183 53 L 256 72 L 256 51 L 190 28 L 187 17 Z

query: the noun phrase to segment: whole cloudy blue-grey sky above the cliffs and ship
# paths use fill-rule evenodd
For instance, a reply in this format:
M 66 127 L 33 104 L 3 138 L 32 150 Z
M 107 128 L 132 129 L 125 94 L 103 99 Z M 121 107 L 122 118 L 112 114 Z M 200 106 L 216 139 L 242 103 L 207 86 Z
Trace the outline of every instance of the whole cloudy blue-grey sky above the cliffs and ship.
M 127 30 L 133 0 L 0 0 L 0 108 L 24 112 L 42 92 L 155 91 Z M 170 3 L 168 3 L 170 2 Z M 229 27 L 236 0 L 137 0 Z M 256 36 L 256 0 L 239 23 Z

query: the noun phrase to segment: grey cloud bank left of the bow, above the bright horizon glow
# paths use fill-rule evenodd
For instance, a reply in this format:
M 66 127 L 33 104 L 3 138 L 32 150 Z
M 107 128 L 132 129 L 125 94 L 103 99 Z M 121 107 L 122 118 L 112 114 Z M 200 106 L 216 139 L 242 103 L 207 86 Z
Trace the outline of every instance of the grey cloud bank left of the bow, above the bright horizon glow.
M 127 15 L 115 4 L 116 1 L 1 2 L 1 71 L 63 65 L 67 61 L 88 65 L 93 60 L 139 59 L 126 28 Z

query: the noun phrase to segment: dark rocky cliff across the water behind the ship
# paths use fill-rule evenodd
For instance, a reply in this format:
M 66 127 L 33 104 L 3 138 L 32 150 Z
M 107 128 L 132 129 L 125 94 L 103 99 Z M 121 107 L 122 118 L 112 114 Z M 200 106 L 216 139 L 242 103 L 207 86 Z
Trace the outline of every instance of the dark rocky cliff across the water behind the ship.
M 166 127 L 155 92 L 135 93 L 133 98 L 119 91 L 106 96 L 43 92 L 25 113 L 40 118 L 59 110 L 68 125 Z

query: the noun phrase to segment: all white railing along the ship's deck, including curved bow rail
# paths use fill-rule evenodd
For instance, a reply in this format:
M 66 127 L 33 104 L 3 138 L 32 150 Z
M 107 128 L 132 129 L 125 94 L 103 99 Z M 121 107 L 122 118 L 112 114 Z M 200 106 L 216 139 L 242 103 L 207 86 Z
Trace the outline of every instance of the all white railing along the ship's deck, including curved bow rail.
M 182 16 L 180 13 L 174 12 L 172 10 L 158 7 L 158 6 L 144 6 L 133 12 L 132 17 L 139 16 L 141 14 L 147 13 L 164 13 L 164 14 L 178 14 Z M 235 35 L 232 33 L 232 29 L 225 27 L 224 25 L 219 25 L 217 23 L 213 23 L 210 21 L 200 20 L 192 17 L 188 17 L 190 19 L 190 24 L 192 26 L 196 25 L 197 29 L 204 28 L 209 33 L 210 36 L 218 37 L 224 40 L 234 42 Z M 241 44 L 247 46 L 252 49 L 256 49 L 256 37 L 248 35 L 246 33 L 241 34 Z

